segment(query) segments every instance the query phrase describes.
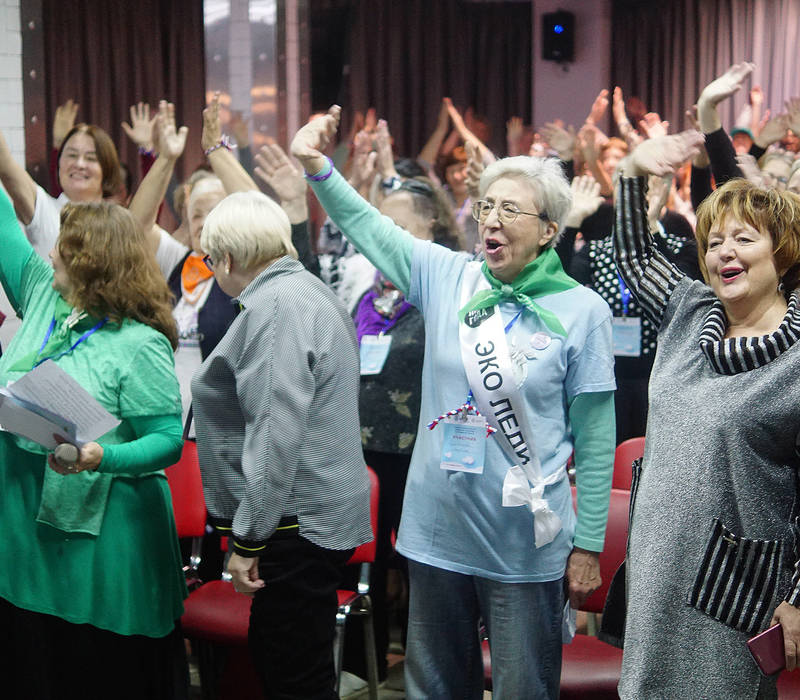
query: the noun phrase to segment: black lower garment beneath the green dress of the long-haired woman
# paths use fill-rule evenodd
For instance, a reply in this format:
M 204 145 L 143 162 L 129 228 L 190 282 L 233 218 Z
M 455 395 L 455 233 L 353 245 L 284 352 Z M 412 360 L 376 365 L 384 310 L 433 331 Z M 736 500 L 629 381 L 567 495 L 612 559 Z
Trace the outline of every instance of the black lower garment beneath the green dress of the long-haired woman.
M 0 697 L 14 700 L 182 700 L 189 686 L 180 624 L 166 637 L 124 636 L 2 598 L 0 678 Z

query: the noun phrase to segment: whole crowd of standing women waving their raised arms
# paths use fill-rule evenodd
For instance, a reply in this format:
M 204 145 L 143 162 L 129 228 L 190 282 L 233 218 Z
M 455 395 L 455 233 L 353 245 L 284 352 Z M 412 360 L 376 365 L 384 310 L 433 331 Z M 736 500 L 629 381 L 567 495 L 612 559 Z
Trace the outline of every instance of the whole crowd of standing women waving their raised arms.
M 135 168 L 60 106 L 47 189 L 0 134 L 0 311 L 22 321 L 0 379 L 51 361 L 120 421 L 72 463 L 0 433 L 9 697 L 108 697 L 118 674 L 121 697 L 187 697 L 163 471 L 181 423 L 202 577 L 227 539 L 267 697 L 338 697 L 367 466 L 379 678 L 393 621 L 409 698 L 480 698 L 483 638 L 497 697 L 558 697 L 633 437 L 625 604 L 605 613 L 620 696 L 775 697 L 747 641 L 780 624 L 800 663 L 800 98 L 763 111 L 753 70 L 705 86 L 689 130 L 616 87 L 582 124 L 510 117 L 505 154 L 446 97 L 419 153 L 374 110 L 340 134 L 338 106 L 252 153 L 215 94 L 184 182 L 197 135 L 166 101 L 123 124 Z

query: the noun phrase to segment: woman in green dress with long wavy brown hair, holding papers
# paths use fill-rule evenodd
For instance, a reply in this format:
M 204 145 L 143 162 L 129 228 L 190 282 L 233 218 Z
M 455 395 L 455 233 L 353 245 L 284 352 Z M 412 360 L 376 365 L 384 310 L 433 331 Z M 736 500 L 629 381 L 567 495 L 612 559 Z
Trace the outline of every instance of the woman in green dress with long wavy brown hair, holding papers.
M 0 695 L 173 698 L 186 587 L 162 471 L 181 449 L 166 283 L 114 204 L 67 205 L 51 267 L 0 190 L 0 242 L 23 319 L 0 386 L 51 360 L 120 420 L 68 468 L 0 433 Z

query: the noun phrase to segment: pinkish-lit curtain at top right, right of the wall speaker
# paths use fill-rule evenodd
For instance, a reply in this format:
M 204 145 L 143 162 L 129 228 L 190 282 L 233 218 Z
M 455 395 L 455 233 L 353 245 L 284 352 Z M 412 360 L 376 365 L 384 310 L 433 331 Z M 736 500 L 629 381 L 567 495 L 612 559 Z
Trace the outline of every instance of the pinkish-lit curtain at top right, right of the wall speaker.
M 756 69 L 720 105 L 726 127 L 751 86 L 764 89 L 764 106 L 773 114 L 800 95 L 797 0 L 615 0 L 613 15 L 613 84 L 676 128 L 688 126 L 684 111 L 703 87 L 739 61 L 753 61 Z

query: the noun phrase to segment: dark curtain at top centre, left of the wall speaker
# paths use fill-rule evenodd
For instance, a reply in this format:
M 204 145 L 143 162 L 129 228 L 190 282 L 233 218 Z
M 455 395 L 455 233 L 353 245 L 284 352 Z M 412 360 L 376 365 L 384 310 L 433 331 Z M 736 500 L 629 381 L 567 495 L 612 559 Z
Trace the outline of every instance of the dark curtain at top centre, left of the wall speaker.
M 354 110 L 375 107 L 398 154 L 415 156 L 436 125 L 442 97 L 472 106 L 505 153 L 509 117 L 531 120 L 531 3 L 354 0 L 343 131 Z

